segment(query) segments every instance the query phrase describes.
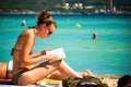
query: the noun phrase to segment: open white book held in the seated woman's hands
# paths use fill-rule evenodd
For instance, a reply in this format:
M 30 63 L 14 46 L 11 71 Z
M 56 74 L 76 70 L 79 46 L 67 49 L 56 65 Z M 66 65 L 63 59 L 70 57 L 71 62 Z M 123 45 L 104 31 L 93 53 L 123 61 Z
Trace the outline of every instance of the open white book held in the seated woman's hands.
M 46 51 L 46 54 L 58 54 L 60 58 L 66 58 L 66 53 L 63 51 L 63 48 L 58 48 L 51 51 Z

